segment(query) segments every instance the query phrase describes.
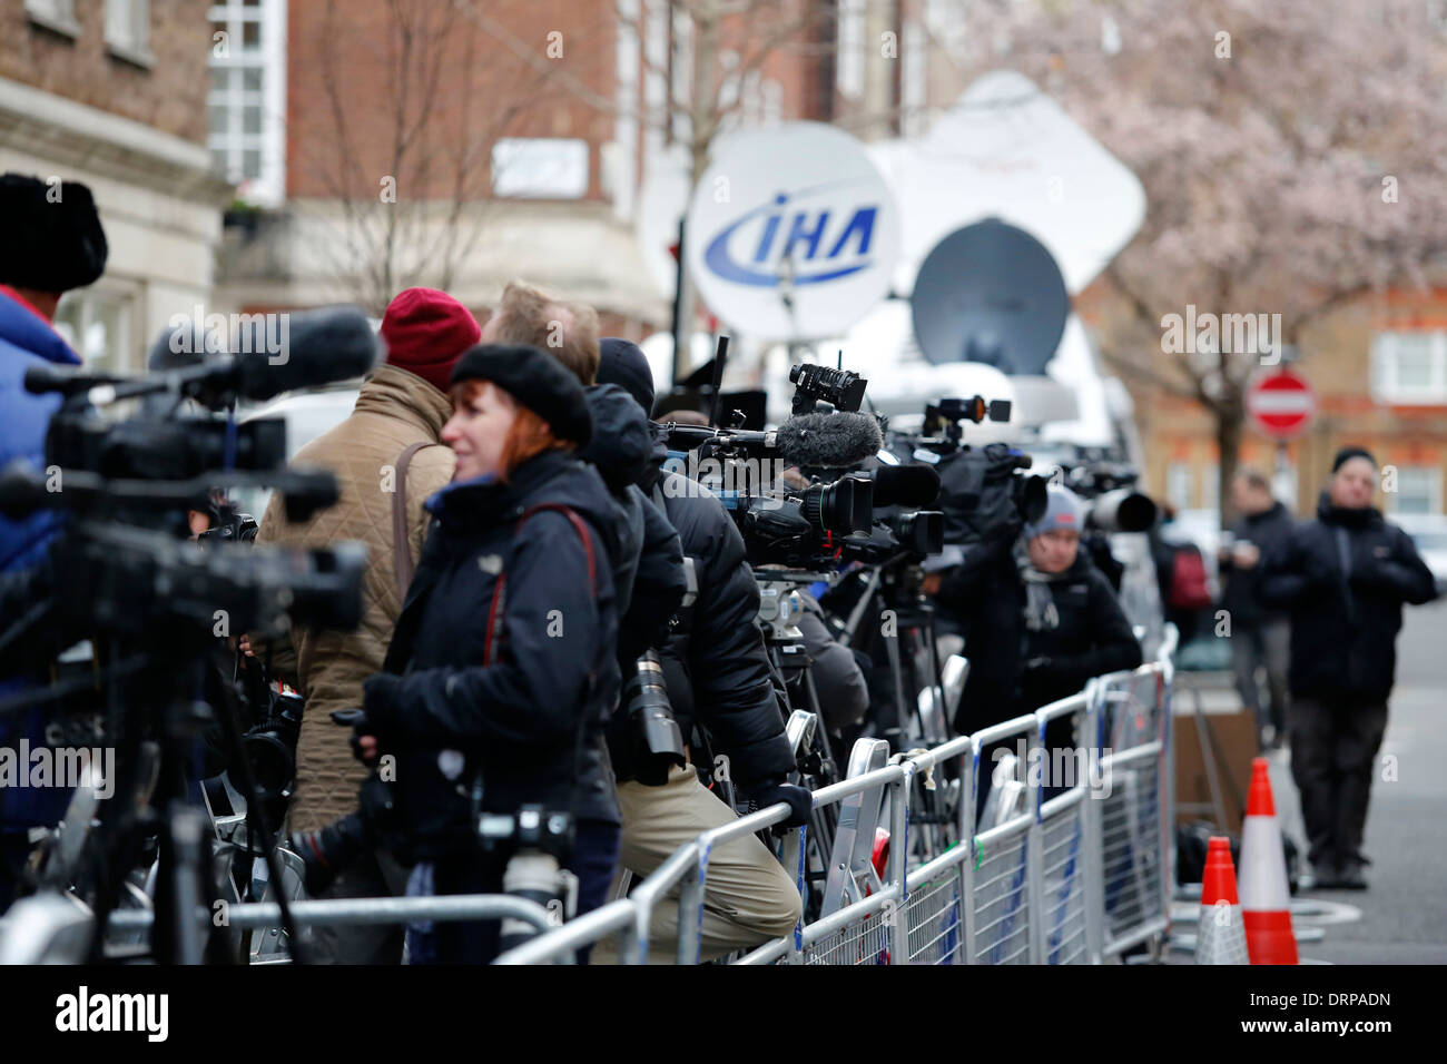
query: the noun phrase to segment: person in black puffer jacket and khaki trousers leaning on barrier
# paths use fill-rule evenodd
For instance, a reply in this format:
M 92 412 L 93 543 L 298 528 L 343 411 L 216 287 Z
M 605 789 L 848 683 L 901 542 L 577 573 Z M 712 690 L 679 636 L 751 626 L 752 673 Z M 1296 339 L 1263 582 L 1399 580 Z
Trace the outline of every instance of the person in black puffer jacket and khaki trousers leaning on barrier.
M 653 372 L 635 345 L 605 339 L 598 375 L 625 388 L 644 411 L 653 408 Z M 758 585 L 745 560 L 744 539 L 712 492 L 658 468 L 664 456 L 660 442 L 640 486 L 679 530 L 697 579 L 697 598 L 680 612 L 663 654 L 669 701 L 683 735 L 692 735 L 695 722 L 706 728 L 713 753 L 728 759 L 731 779 L 760 806 L 787 802 L 793 808 L 790 824 L 803 824 L 812 799 L 803 788 L 784 782 L 794 759 L 755 624 Z M 700 831 L 735 819 L 734 811 L 700 783 L 696 769 L 674 766 L 663 780 L 642 780 L 622 753 L 627 744 L 614 738 L 611 746 L 624 816 L 622 863 L 634 874 L 650 874 Z M 709 856 L 702 957 L 786 935 L 799 913 L 799 890 L 757 837 L 734 840 Z M 651 955 L 669 960 L 676 940 L 674 908 L 657 906 Z

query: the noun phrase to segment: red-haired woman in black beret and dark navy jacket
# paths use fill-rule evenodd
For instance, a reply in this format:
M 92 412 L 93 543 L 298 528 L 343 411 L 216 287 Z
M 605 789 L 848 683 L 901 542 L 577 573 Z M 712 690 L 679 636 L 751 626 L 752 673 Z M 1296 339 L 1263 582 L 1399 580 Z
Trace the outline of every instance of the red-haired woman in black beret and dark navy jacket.
M 587 404 L 524 346 L 470 349 L 451 387 L 457 472 L 427 502 L 437 524 L 385 672 L 365 685 L 357 753 L 396 757 L 396 841 L 418 861 L 408 893 L 498 893 L 509 847 L 485 847 L 476 814 L 534 805 L 572 814 L 567 863 L 586 895 L 612 876 L 595 856 L 616 853 L 619 822 L 602 740 L 619 680 L 614 507 L 572 453 L 592 436 Z M 431 926 L 410 935 L 412 963 L 498 953 L 495 922 Z

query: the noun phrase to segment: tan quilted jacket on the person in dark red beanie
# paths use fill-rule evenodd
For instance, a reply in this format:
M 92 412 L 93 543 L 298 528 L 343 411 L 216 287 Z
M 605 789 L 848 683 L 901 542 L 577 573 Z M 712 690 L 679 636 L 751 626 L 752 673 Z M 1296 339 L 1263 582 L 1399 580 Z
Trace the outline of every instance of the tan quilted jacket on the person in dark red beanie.
M 356 808 L 366 769 L 352 757 L 350 731 L 333 724 L 330 714 L 362 705 L 362 682 L 381 672 L 402 612 L 392 572 L 394 492 L 388 491 L 395 482 L 396 460 L 408 444 L 437 443 L 450 414 L 447 397 L 423 378 L 395 366 L 379 368 L 362 385 L 352 415 L 302 447 L 292 462 L 294 468 L 334 472 L 341 488 L 337 504 L 300 524 L 287 523 L 276 495 L 266 507 L 258 543 L 326 547 L 339 540 L 362 540 L 368 544 L 362 625 L 353 633 L 294 628 L 289 649 L 271 646 L 273 672 L 297 683 L 305 698 L 291 831 L 321 828 Z M 412 456 L 407 518 L 414 563 L 427 536 L 428 514 L 423 504 L 451 479 L 453 465 L 446 444 L 424 447 Z M 253 643 L 258 654 L 263 654 L 265 644 Z

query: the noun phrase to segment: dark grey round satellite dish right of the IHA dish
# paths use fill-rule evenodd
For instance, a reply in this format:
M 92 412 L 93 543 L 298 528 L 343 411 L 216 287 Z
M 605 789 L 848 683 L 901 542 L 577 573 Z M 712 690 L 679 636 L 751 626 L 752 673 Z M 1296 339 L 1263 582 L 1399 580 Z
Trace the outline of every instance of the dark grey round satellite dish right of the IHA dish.
M 1065 278 L 1045 245 L 998 219 L 936 243 L 910 304 L 926 359 L 983 362 L 1010 376 L 1045 372 L 1071 313 Z

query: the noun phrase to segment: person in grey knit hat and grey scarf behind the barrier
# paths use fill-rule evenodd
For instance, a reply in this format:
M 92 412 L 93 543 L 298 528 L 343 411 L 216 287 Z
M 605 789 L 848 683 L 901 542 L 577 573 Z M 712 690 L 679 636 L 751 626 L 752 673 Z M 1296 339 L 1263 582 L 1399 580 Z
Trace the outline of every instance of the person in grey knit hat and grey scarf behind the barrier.
M 1110 580 L 1079 550 L 1084 523 L 1081 499 L 1052 485 L 1045 514 L 1019 539 L 1000 540 L 977 565 L 926 582 L 965 637 L 969 679 L 955 711 L 961 734 L 1068 698 L 1092 676 L 1140 664 L 1140 643 Z M 1069 718 L 1052 721 L 1048 746 L 1068 746 L 1068 728 Z M 991 754 L 984 753 L 983 764 L 993 766 Z M 987 782 L 983 769 L 981 796 Z

